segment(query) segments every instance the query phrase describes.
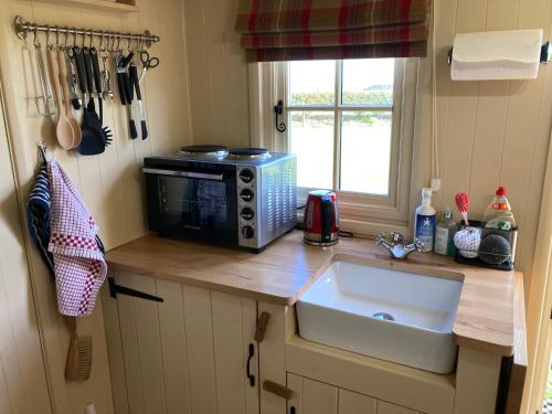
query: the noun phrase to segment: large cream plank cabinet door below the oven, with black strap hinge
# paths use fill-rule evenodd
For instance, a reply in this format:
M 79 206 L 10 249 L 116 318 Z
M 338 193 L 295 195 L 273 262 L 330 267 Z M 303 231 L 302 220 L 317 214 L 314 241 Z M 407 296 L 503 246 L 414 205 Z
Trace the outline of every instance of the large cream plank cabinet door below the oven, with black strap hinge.
M 115 278 L 163 298 L 104 295 L 117 414 L 258 414 L 255 300 L 127 273 Z

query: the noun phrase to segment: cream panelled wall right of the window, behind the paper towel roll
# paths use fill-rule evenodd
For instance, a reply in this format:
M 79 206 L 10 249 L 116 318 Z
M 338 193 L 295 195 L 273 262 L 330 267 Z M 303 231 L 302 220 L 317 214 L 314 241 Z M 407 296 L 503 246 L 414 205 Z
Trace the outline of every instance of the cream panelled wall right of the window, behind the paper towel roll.
M 496 188 L 506 185 L 520 234 L 517 267 L 530 287 L 534 236 L 545 155 L 550 141 L 552 79 L 541 65 L 538 79 L 453 82 L 446 53 L 455 33 L 534 29 L 551 33 L 552 3 L 545 0 L 435 1 L 437 42 L 437 117 L 442 191 L 434 194 L 436 209 L 454 208 L 454 194 L 470 195 L 470 216 L 480 219 Z M 417 135 L 415 171 L 423 180 L 412 188 L 411 205 L 420 204 L 420 187 L 429 181 L 431 60 L 422 60 L 416 107 L 422 130 Z M 459 215 L 453 209 L 456 219 Z

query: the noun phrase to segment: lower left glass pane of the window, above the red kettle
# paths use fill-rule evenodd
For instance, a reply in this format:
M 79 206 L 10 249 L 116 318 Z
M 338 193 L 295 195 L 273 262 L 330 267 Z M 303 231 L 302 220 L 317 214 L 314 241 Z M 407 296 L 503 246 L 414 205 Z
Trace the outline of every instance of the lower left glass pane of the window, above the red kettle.
M 333 188 L 332 112 L 293 112 L 291 152 L 297 155 L 297 185 Z

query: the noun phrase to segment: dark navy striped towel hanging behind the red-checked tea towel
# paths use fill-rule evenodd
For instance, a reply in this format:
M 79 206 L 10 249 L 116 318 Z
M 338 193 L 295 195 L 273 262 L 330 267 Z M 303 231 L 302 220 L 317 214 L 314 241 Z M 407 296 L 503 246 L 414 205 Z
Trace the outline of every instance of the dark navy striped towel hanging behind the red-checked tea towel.
M 50 182 L 47 163 L 40 167 L 26 202 L 26 225 L 34 245 L 39 250 L 50 275 L 54 277 L 54 257 L 47 251 L 50 244 Z

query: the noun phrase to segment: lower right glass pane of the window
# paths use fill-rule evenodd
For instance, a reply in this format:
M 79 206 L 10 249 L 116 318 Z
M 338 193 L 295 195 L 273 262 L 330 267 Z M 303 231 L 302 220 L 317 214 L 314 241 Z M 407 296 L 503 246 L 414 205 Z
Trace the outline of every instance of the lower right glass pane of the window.
M 341 116 L 341 190 L 386 195 L 391 112 L 343 112 Z

